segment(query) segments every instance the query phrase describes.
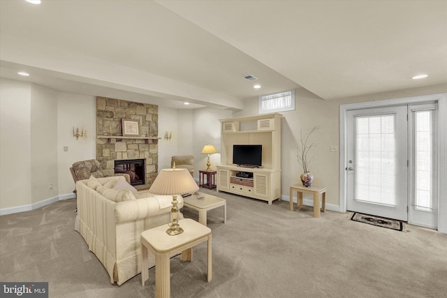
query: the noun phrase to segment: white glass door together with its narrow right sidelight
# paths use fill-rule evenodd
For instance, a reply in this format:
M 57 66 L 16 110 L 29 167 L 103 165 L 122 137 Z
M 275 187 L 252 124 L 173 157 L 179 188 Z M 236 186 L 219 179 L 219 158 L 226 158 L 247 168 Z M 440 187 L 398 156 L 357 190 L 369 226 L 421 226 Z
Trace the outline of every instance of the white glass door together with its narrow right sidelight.
M 437 104 L 346 115 L 347 209 L 437 228 Z

